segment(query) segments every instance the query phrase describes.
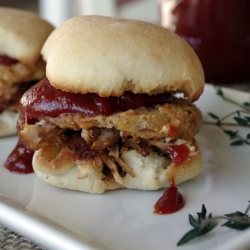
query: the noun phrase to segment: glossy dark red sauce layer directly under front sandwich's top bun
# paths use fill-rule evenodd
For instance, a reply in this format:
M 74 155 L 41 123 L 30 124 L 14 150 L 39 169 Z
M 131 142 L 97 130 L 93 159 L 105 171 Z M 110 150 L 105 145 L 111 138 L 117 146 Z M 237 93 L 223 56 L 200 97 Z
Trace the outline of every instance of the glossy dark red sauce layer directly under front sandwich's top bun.
M 30 88 L 21 99 L 21 110 L 28 120 L 44 116 L 58 117 L 60 114 L 83 116 L 111 115 L 117 111 L 136 109 L 142 106 L 171 102 L 171 94 L 149 96 L 125 92 L 120 97 L 100 97 L 95 93 L 74 94 L 54 88 L 47 78 Z

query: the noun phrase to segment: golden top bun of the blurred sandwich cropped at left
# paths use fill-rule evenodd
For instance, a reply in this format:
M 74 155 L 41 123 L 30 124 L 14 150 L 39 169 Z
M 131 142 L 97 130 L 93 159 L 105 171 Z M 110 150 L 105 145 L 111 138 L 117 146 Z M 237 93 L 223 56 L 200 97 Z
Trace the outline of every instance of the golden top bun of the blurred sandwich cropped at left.
M 0 7 L 0 54 L 33 66 L 53 29 L 35 13 Z

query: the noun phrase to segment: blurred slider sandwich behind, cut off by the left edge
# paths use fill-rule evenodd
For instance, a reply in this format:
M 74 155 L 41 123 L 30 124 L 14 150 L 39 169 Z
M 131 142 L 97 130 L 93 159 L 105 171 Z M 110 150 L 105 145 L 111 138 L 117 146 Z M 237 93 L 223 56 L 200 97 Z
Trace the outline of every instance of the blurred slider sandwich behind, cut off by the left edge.
M 21 96 L 45 75 L 40 50 L 53 29 L 32 12 L 0 7 L 0 137 L 16 133 Z

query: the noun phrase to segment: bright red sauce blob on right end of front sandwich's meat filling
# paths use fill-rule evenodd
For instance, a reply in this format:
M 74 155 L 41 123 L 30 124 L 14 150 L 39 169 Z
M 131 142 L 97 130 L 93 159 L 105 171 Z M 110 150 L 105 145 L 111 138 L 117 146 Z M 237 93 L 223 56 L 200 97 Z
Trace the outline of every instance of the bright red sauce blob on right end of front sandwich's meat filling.
M 167 151 L 171 154 L 175 166 L 179 166 L 185 162 L 190 154 L 190 150 L 186 144 L 169 146 Z

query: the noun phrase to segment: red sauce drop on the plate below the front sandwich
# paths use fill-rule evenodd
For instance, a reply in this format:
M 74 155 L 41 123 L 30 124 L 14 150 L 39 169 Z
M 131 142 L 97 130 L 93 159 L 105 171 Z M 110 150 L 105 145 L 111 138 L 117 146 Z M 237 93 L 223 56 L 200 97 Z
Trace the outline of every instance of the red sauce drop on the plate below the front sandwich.
M 171 214 L 179 211 L 185 205 L 182 194 L 175 186 L 174 179 L 170 180 L 170 187 L 165 190 L 163 195 L 155 203 L 155 214 Z

